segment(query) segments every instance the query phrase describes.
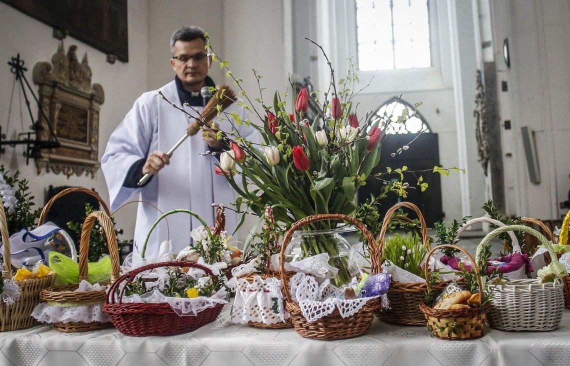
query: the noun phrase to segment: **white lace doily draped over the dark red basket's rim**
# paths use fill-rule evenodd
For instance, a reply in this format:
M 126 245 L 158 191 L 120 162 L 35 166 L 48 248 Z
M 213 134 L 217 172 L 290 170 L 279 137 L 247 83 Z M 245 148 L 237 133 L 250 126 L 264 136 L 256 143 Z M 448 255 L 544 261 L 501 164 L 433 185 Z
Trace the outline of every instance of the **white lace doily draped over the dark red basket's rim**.
M 145 304 L 168 303 L 178 316 L 190 316 L 197 315 L 202 310 L 214 307 L 217 304 L 226 304 L 227 291 L 225 288 L 222 288 L 209 298 L 200 296 L 198 298 L 188 299 L 164 296 L 157 288 L 154 288 L 152 291 L 143 295 L 123 296 L 123 302 Z

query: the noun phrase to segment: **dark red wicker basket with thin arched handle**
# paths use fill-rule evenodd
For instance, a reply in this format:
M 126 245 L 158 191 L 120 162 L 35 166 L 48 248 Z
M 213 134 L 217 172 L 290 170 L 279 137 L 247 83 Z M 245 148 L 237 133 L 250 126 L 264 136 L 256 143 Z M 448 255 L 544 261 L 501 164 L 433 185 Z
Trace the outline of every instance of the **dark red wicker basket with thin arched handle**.
M 111 290 L 107 293 L 107 299 L 103 306 L 103 311 L 109 314 L 109 319 L 121 333 L 128 336 L 145 337 L 145 336 L 165 336 L 174 335 L 197 330 L 207 323 L 213 322 L 218 318 L 222 311 L 223 304 L 217 304 L 214 307 L 206 308 L 197 315 L 179 316 L 172 310 L 167 303 L 123 303 L 123 295 L 127 285 L 135 279 L 136 275 L 158 267 L 193 267 L 205 271 L 207 275 L 212 276 L 214 282 L 216 276 L 204 266 L 194 262 L 161 262 L 152 263 L 147 266 L 139 267 L 119 277 Z M 118 302 L 115 294 L 121 282 L 127 281 L 118 296 Z

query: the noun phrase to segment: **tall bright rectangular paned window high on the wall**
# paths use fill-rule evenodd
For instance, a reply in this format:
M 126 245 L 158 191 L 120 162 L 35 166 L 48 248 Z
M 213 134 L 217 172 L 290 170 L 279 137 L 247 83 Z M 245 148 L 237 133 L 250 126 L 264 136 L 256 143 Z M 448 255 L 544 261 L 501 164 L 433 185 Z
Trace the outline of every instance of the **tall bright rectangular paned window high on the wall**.
M 429 0 L 356 0 L 359 69 L 431 66 Z

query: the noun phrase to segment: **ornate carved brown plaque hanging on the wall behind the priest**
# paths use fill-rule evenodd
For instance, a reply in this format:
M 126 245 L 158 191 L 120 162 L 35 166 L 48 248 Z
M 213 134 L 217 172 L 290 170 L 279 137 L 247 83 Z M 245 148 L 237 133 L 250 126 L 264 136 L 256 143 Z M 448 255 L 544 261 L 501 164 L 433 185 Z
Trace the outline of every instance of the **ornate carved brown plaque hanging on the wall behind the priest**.
M 90 174 L 93 178 L 100 166 L 99 109 L 105 95 L 100 84 L 91 84 L 87 54 L 79 62 L 76 51 L 77 46 L 72 45 L 66 54 L 62 41 L 51 63 L 34 65 L 32 78 L 39 86 L 39 103 L 62 144 L 35 158 L 38 174 L 46 169 L 67 177 Z M 40 140 L 53 141 L 42 113 L 38 114 Z

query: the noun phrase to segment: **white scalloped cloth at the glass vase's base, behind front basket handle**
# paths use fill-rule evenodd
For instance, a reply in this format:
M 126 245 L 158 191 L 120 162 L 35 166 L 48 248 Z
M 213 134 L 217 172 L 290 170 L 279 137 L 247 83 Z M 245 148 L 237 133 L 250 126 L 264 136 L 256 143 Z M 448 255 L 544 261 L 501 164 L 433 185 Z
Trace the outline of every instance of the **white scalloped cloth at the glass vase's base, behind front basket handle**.
M 339 270 L 329 265 L 328 261 L 328 253 L 321 253 L 302 259 L 298 262 L 285 262 L 285 270 L 297 273 L 306 273 L 318 278 L 333 278 Z M 231 274 L 237 277 L 248 273 L 254 273 L 256 271 L 255 264 L 254 260 L 249 263 L 239 265 L 231 270 Z M 271 255 L 270 269 L 272 271 L 279 271 L 279 254 Z

